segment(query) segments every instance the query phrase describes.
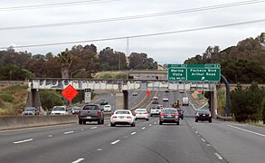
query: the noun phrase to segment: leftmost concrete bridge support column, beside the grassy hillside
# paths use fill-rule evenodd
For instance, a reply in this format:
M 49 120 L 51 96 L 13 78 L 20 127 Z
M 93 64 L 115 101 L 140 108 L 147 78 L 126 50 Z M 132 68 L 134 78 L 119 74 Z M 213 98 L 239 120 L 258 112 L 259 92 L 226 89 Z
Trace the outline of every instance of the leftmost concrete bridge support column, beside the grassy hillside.
M 41 112 L 43 111 L 40 94 L 37 89 L 29 88 L 26 107 L 36 107 Z

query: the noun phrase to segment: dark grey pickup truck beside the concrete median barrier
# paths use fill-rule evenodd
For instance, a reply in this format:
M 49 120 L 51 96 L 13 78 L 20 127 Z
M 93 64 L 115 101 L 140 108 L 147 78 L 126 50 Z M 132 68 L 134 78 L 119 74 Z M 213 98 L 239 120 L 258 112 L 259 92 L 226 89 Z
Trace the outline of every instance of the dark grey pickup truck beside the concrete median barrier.
M 87 121 L 98 121 L 104 124 L 104 110 L 99 104 L 87 104 L 78 112 L 79 124 L 86 124 Z

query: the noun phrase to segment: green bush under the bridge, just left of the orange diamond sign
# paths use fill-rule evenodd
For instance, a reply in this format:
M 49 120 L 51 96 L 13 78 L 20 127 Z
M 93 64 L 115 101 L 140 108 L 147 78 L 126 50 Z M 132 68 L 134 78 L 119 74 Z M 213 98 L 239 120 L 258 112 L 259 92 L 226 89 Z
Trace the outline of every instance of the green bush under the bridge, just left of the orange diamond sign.
M 43 110 L 51 110 L 53 106 L 63 105 L 63 97 L 60 91 L 41 90 L 40 98 Z

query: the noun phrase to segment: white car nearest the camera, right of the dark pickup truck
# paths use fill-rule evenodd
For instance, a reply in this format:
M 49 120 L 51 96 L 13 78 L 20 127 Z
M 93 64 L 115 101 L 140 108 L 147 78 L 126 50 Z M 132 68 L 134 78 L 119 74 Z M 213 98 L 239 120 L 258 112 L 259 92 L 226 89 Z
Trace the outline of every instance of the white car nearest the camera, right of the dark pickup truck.
M 115 110 L 110 117 L 110 126 L 114 127 L 116 125 L 130 125 L 131 127 L 135 127 L 135 116 L 130 110 Z

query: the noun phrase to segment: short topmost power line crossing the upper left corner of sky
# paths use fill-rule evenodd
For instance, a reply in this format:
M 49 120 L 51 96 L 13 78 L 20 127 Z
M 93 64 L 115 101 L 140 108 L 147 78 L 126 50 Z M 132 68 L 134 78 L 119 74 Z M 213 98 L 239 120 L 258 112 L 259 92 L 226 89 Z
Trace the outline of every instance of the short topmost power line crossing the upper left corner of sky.
M 23 5 L 23 6 L 13 6 L 13 7 L 2 7 L 0 8 L 0 11 L 30 10 L 30 9 L 61 7 L 69 5 L 99 4 L 99 3 L 107 3 L 115 1 L 122 1 L 122 0 L 87 0 L 87 1 L 63 2 L 63 3 L 43 4 L 43 5 Z

